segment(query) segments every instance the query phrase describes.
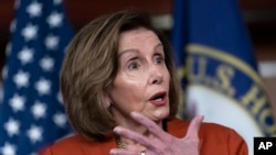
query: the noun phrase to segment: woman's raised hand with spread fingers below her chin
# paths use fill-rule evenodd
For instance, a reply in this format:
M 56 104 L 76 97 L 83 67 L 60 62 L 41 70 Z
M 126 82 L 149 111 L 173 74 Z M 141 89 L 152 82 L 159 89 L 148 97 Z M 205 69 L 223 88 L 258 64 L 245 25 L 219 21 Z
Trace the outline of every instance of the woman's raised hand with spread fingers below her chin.
M 134 150 L 113 148 L 112 155 L 199 155 L 200 140 L 198 132 L 203 120 L 202 115 L 195 117 L 184 137 L 178 139 L 164 132 L 153 121 L 138 112 L 131 112 L 131 118 L 146 126 L 153 137 L 147 137 L 140 133 L 130 131 L 123 126 L 116 126 L 114 132 L 123 137 L 132 140 L 146 147 L 146 152 Z

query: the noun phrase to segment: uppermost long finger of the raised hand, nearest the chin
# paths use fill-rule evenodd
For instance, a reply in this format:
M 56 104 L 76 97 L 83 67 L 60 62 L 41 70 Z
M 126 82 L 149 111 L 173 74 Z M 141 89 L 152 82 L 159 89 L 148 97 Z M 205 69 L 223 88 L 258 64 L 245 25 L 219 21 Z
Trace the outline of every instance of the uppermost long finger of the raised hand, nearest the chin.
M 139 112 L 131 112 L 130 117 L 137 121 L 138 123 L 142 124 L 146 126 L 152 134 L 155 134 L 158 139 L 160 140 L 166 140 L 167 133 L 159 126 L 157 125 L 153 121 L 145 117 L 144 114 Z

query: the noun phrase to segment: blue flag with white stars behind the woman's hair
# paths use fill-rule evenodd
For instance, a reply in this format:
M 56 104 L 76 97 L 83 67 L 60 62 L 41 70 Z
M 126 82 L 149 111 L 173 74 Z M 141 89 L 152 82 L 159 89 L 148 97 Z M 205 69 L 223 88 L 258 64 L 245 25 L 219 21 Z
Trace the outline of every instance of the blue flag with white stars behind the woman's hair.
M 35 155 L 70 134 L 59 87 L 72 38 L 62 0 L 18 0 L 3 67 L 0 154 Z

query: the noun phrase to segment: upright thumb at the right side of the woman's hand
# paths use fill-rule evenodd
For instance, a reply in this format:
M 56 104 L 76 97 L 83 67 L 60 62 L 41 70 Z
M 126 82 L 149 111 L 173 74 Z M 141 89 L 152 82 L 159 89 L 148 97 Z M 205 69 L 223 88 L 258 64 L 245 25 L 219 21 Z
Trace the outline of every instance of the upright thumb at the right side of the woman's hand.
M 192 119 L 188 131 L 187 131 L 187 136 L 191 136 L 191 137 L 198 137 L 199 136 L 199 130 L 200 130 L 200 125 L 203 121 L 203 115 L 197 115 L 195 118 Z

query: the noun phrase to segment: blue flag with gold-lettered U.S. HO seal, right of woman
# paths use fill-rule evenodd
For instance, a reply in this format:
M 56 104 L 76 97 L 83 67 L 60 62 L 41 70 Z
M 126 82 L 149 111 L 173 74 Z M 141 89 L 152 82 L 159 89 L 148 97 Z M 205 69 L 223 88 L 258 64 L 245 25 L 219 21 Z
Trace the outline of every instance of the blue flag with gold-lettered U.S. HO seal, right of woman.
M 238 1 L 176 0 L 173 19 L 171 41 L 187 81 L 179 115 L 235 129 L 252 155 L 253 137 L 275 136 L 276 124 Z

